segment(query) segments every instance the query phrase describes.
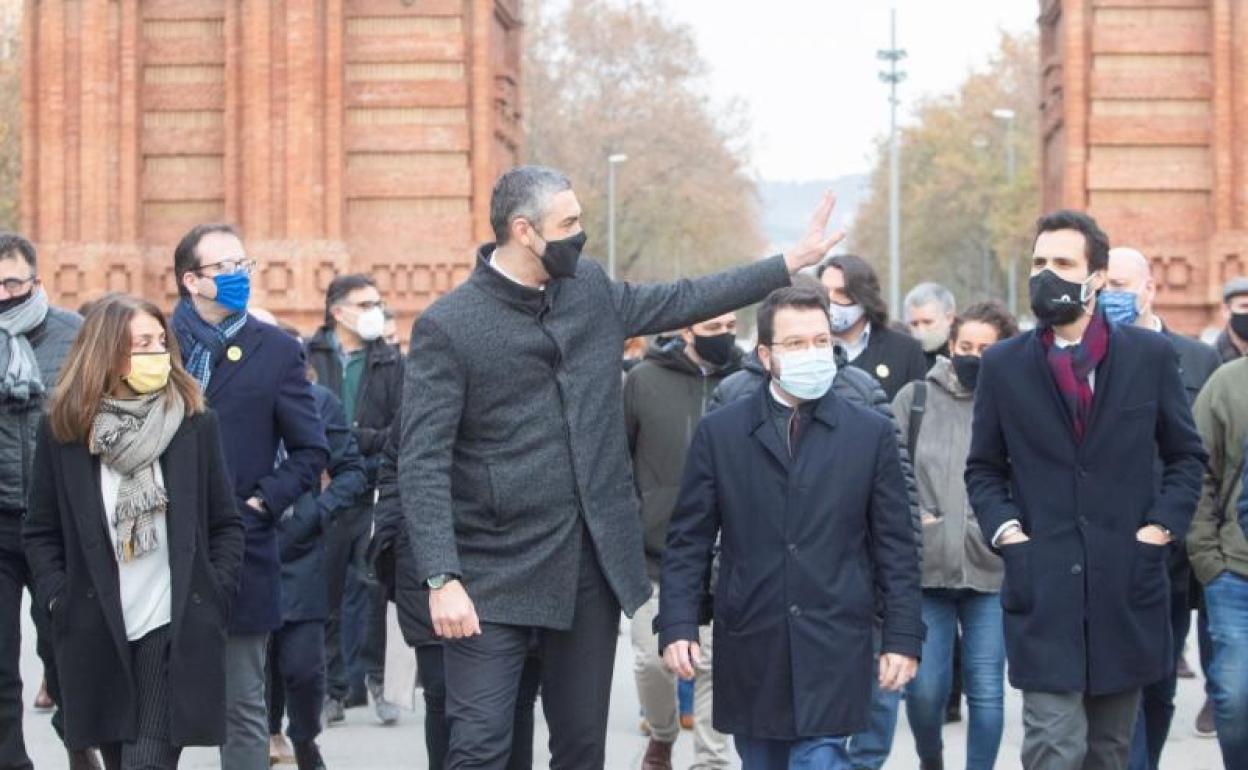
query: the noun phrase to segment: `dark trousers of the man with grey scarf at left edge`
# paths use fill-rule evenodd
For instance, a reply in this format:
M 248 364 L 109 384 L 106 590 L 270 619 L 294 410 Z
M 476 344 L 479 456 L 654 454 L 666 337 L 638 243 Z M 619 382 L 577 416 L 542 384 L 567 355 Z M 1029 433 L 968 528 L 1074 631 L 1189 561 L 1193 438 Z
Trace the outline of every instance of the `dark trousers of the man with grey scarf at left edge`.
M 30 589 L 30 618 L 35 621 L 35 651 L 44 661 L 47 694 L 60 703 L 56 661 L 52 658 L 49 618 L 44 602 L 34 597 L 35 587 L 21 549 L 21 512 L 0 510 L 0 769 L 26 770 L 31 766 L 21 733 L 21 594 Z M 52 726 L 61 734 L 60 711 Z

